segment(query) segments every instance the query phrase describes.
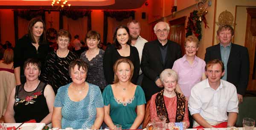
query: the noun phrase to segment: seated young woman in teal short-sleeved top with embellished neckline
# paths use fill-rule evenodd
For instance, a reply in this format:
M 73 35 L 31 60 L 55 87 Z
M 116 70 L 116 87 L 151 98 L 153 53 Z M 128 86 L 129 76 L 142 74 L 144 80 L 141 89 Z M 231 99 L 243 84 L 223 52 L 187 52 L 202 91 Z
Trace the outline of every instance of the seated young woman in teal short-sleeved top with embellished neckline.
M 120 58 L 113 70 L 114 84 L 108 85 L 103 91 L 104 122 L 112 130 L 116 124 L 121 124 L 125 130 L 142 129 L 140 124 L 146 101 L 143 89 L 131 83 L 134 66 L 128 58 Z

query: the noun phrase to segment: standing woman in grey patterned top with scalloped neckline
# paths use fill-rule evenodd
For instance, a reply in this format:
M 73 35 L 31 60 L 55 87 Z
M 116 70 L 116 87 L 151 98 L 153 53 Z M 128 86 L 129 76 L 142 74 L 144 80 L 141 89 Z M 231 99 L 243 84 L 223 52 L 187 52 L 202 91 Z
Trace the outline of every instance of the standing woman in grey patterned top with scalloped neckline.
M 99 49 L 100 34 L 90 30 L 86 34 L 85 41 L 89 50 L 82 53 L 80 58 L 88 64 L 86 81 L 99 86 L 100 90 L 103 91 L 107 86 L 107 82 L 103 72 L 103 56 L 105 51 Z

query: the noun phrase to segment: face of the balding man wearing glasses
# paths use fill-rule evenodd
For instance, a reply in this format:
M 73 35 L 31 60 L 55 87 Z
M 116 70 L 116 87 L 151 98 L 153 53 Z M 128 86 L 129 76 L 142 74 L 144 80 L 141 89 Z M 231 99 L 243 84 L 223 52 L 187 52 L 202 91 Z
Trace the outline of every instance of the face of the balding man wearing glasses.
M 166 41 L 168 38 L 169 30 L 167 30 L 166 23 L 160 22 L 156 26 L 155 34 L 159 41 Z

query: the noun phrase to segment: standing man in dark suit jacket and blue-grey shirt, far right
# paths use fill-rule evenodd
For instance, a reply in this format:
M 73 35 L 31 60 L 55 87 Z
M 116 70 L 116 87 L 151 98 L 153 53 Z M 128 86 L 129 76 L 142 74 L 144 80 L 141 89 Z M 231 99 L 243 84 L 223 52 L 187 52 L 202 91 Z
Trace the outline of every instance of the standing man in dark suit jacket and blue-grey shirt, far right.
M 217 31 L 219 44 L 206 49 L 204 61 L 219 59 L 224 63 L 222 80 L 233 83 L 237 89 L 239 103 L 243 101 L 249 80 L 249 54 L 246 47 L 231 43 L 234 30 L 230 25 L 220 26 Z

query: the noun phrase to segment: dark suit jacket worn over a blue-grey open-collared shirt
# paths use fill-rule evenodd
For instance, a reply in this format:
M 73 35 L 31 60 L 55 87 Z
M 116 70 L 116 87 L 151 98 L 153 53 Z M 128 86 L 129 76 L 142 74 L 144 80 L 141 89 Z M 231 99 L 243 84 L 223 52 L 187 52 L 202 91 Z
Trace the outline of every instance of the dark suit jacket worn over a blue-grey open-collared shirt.
M 220 44 L 206 49 L 204 61 L 221 60 Z M 227 81 L 236 86 L 237 93 L 244 95 L 249 80 L 249 54 L 246 47 L 238 44 L 231 44 L 230 55 L 227 61 Z

